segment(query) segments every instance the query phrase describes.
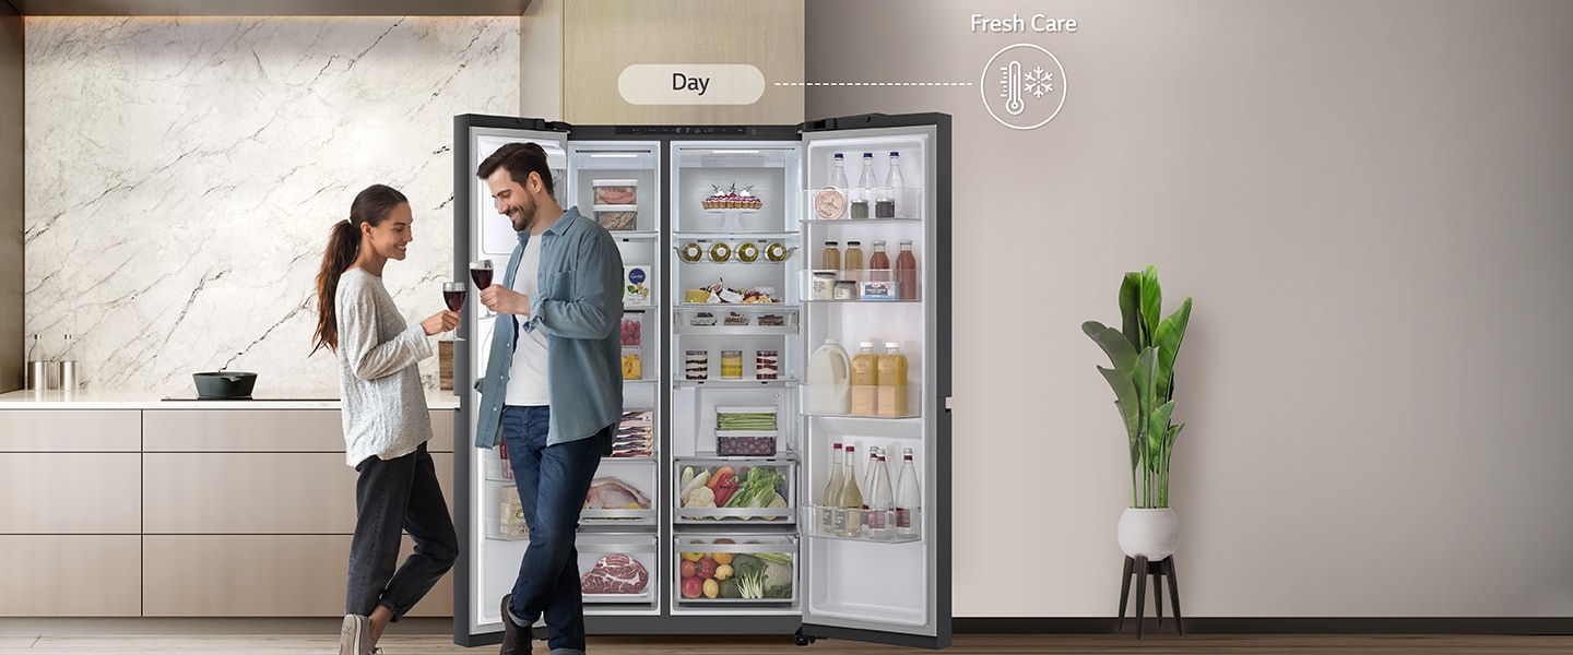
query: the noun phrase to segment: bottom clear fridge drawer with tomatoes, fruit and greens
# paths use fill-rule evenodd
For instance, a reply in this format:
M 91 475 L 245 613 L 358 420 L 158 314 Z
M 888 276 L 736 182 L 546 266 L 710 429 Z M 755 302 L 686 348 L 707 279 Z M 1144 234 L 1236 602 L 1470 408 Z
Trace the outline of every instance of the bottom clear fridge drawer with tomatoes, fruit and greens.
M 680 534 L 673 603 L 683 609 L 786 606 L 798 602 L 798 537 Z

